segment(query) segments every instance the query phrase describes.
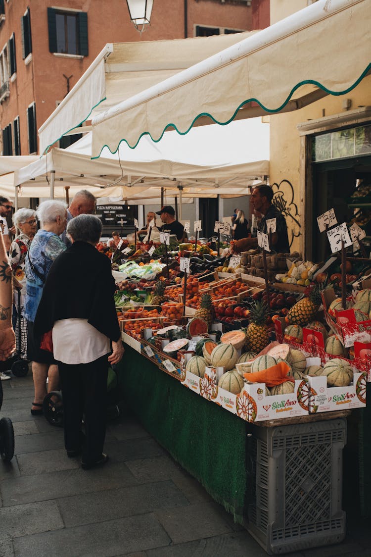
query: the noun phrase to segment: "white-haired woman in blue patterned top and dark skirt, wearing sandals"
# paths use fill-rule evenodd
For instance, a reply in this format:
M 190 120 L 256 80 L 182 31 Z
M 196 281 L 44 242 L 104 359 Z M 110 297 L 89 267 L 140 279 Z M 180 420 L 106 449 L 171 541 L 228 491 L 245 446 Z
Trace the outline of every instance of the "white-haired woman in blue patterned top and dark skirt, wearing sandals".
M 66 250 L 59 235 L 66 228 L 67 205 L 62 201 L 44 201 L 39 204 L 37 217 L 41 229 L 35 234 L 26 256 L 26 300 L 24 317 L 27 320 L 27 358 L 32 361 L 34 400 L 31 414 L 42 414 L 42 403 L 47 395 L 46 379 L 50 391 L 58 388 L 58 367 L 50 351 L 40 348 L 40 339 L 34 338 L 33 323 L 41 300 L 46 277 L 53 261 Z

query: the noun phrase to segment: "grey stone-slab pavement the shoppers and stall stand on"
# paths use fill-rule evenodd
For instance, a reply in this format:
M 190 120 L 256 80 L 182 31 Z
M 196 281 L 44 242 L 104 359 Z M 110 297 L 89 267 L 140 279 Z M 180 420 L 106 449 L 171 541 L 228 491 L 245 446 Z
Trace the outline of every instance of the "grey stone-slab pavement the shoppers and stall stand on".
M 3 381 L 16 454 L 0 462 L 0 556 L 264 557 L 265 551 L 131 416 L 107 429 L 110 462 L 83 471 L 63 431 L 31 416 L 32 377 Z M 342 544 L 292 557 L 371 555 L 348 517 Z

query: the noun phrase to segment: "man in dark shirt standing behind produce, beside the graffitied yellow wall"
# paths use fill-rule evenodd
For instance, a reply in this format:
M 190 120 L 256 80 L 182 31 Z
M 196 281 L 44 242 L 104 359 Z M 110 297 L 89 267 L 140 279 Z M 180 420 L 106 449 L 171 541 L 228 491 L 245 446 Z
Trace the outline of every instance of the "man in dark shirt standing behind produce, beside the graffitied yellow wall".
M 272 204 L 273 191 L 269 185 L 260 185 L 253 189 L 251 193 L 250 203 L 259 213 L 263 214 L 258 230 L 267 233 L 266 221 L 271 218 L 276 219 L 276 231 L 271 234 L 271 250 L 278 253 L 289 253 L 289 237 L 287 233 L 287 226 L 285 217 L 274 207 Z M 250 250 L 258 246 L 257 238 L 243 238 L 238 240 L 233 245 L 233 252 L 240 253 L 241 251 Z

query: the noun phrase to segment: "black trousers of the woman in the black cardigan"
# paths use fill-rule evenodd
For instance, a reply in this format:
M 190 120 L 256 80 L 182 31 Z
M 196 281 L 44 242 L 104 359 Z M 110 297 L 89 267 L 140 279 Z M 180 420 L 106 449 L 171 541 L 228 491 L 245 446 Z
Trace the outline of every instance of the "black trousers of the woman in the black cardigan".
M 65 447 L 78 451 L 82 462 L 102 457 L 106 436 L 108 354 L 89 364 L 63 364 L 58 361 L 65 418 Z M 85 438 L 82 433 L 84 415 Z M 83 441 L 83 442 L 82 442 Z

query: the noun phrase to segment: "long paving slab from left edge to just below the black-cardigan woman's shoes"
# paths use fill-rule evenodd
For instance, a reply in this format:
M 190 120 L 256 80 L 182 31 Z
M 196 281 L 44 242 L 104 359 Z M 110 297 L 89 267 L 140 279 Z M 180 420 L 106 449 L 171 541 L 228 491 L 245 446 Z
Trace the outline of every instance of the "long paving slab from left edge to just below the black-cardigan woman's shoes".
M 4 480 L 1 483 L 1 494 L 3 506 L 10 506 L 105 491 L 136 483 L 125 463 L 108 462 L 102 468 L 93 470 L 82 470 L 79 467 Z

